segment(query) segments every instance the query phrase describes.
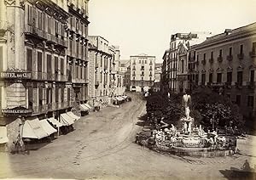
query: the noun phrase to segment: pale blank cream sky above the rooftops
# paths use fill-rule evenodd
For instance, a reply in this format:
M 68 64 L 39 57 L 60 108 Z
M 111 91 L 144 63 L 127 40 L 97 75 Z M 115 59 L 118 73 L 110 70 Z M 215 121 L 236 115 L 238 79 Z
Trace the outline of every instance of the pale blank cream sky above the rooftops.
M 172 34 L 256 22 L 256 0 L 90 0 L 89 35 L 119 46 L 120 59 L 146 53 L 162 62 Z

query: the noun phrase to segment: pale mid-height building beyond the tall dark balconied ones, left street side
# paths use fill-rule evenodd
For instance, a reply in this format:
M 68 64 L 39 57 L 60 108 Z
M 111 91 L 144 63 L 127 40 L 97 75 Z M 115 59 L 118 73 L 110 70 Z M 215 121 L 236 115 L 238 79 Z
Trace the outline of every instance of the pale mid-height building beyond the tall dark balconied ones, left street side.
M 123 78 L 119 74 L 119 47 L 112 46 L 100 36 L 90 36 L 90 104 L 110 104 L 111 97 L 124 91 Z

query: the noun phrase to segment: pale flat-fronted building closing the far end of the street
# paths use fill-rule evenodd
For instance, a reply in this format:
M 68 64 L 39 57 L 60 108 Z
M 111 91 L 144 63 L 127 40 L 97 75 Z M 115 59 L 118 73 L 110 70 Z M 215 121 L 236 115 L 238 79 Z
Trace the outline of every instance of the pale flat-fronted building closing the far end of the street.
M 155 56 L 140 54 L 131 56 L 130 91 L 147 92 L 154 86 Z

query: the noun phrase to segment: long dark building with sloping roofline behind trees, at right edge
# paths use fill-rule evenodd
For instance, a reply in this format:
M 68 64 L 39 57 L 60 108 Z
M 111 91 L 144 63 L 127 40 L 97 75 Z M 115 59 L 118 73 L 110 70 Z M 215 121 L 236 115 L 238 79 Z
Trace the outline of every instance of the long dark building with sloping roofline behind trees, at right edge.
M 195 82 L 230 97 L 251 117 L 256 110 L 255 52 L 256 23 L 209 37 L 190 50 L 196 57 Z

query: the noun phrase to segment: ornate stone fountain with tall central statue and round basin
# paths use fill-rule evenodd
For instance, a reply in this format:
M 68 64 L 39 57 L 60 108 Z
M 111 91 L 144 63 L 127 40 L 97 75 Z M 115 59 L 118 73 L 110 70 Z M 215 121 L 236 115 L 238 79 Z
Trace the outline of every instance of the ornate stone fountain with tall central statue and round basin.
M 185 116 L 181 118 L 183 126 L 179 129 L 164 124 L 160 131 L 154 129 L 152 136 L 148 138 L 152 149 L 167 151 L 175 155 L 191 156 L 224 156 L 233 155 L 236 149 L 236 137 L 227 137 L 217 132 L 204 132 L 201 125 L 195 127 L 194 118 L 190 116 L 189 105 L 191 97 L 187 93 L 183 95 Z M 170 127 L 170 128 L 168 128 Z

